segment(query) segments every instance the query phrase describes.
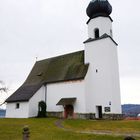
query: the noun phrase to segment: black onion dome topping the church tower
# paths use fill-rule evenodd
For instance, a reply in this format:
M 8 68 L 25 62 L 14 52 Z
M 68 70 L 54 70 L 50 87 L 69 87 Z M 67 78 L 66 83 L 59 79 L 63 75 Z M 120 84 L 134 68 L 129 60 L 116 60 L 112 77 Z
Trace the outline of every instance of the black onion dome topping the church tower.
M 87 7 L 89 18 L 97 16 L 109 16 L 112 12 L 112 6 L 107 0 L 92 0 Z

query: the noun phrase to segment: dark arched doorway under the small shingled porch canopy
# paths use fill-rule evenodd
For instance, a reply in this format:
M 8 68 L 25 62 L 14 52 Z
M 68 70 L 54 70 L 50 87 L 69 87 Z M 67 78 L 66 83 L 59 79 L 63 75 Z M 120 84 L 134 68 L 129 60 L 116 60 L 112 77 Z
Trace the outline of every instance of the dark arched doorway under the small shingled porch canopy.
M 64 107 L 64 117 L 65 118 L 73 118 L 74 108 L 73 105 L 66 105 Z

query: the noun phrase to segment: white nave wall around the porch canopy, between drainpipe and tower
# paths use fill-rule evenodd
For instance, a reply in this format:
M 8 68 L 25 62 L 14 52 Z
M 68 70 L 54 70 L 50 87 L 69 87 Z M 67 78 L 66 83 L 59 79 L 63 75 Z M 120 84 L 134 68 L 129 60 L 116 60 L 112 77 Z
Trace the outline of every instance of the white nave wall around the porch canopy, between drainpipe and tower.
M 47 85 L 47 111 L 64 111 L 63 106 L 56 104 L 61 98 L 76 97 L 75 113 L 85 113 L 85 84 L 84 81 L 70 81 Z

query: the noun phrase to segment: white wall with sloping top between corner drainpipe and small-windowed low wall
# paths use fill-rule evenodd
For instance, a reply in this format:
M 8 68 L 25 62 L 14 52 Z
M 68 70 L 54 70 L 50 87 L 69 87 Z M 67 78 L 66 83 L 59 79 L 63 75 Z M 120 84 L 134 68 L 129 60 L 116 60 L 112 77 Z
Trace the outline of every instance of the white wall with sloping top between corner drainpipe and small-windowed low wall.
M 45 86 L 42 86 L 29 100 L 29 117 L 37 116 L 40 101 L 45 101 Z

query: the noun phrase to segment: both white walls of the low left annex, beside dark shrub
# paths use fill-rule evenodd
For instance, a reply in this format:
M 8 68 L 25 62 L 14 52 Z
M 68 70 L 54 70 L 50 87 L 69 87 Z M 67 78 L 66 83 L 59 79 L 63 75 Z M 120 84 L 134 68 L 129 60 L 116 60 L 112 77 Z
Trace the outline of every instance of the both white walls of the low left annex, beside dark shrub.
M 29 118 L 38 114 L 38 103 L 45 101 L 45 87 L 42 86 L 27 102 L 7 103 L 6 118 Z M 19 108 L 16 104 L 19 103 Z

